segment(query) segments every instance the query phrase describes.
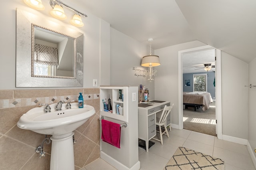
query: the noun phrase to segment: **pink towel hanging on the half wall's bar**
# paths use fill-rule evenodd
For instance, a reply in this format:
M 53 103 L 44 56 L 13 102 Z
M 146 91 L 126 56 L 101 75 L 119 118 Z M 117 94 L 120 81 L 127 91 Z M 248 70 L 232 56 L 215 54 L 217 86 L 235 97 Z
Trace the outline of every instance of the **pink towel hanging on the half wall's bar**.
M 102 141 L 112 144 L 117 148 L 120 148 L 120 137 L 121 137 L 120 124 L 102 119 L 101 127 L 102 127 L 102 134 L 101 134 Z

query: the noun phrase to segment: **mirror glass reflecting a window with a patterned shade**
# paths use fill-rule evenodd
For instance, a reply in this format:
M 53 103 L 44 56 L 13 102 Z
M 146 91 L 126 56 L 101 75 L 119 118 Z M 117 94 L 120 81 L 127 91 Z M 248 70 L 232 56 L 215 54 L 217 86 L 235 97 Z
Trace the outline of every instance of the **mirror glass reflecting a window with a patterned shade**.
M 32 32 L 34 32 L 34 41 L 32 40 L 33 63 L 31 63 L 31 76 L 75 79 L 76 53 L 74 47 L 76 46 L 76 38 L 36 25 L 32 27 Z M 40 67 L 38 67 L 38 64 L 41 64 Z M 34 73 L 37 68 L 42 70 L 42 65 L 46 65 L 44 68 L 52 70 L 52 72 L 47 72 L 47 74 L 46 72 Z

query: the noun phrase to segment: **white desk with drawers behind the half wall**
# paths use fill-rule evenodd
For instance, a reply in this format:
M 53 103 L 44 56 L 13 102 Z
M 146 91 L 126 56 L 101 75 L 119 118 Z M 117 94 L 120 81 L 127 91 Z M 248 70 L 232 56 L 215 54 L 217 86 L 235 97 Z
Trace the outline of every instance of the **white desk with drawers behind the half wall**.
M 156 113 L 161 112 L 164 106 L 170 106 L 170 101 L 156 101 L 154 103 L 141 103 L 138 105 L 138 132 L 139 139 L 146 141 L 146 152 L 148 152 L 148 141 L 156 136 Z M 171 125 L 171 114 L 166 119 L 166 126 Z

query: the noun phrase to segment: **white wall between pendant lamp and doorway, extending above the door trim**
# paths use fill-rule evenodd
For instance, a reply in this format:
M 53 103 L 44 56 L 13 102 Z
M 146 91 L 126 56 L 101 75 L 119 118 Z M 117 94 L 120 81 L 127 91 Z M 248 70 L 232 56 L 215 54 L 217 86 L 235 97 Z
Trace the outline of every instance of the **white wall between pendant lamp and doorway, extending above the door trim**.
M 206 45 L 199 41 L 172 45 L 156 49 L 161 65 L 156 67 L 155 99 L 174 103 L 172 109 L 172 124 L 178 127 L 178 51 Z

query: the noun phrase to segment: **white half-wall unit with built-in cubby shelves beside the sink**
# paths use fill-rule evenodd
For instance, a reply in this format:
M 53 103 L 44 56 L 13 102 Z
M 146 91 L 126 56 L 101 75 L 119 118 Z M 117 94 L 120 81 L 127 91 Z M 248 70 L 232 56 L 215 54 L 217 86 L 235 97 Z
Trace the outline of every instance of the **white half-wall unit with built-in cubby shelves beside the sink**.
M 119 89 L 123 93 L 123 101 L 119 100 Z M 111 99 L 112 113 L 104 111 L 103 101 Z M 103 100 L 103 101 L 102 101 Z M 116 105 L 123 107 L 123 115 L 118 115 Z M 118 170 L 139 170 L 138 159 L 138 87 L 133 86 L 101 86 L 100 118 L 127 127 L 121 128 L 120 148 L 100 140 L 100 157 Z M 100 135 L 101 135 L 100 123 Z M 100 136 L 101 138 L 101 136 Z

